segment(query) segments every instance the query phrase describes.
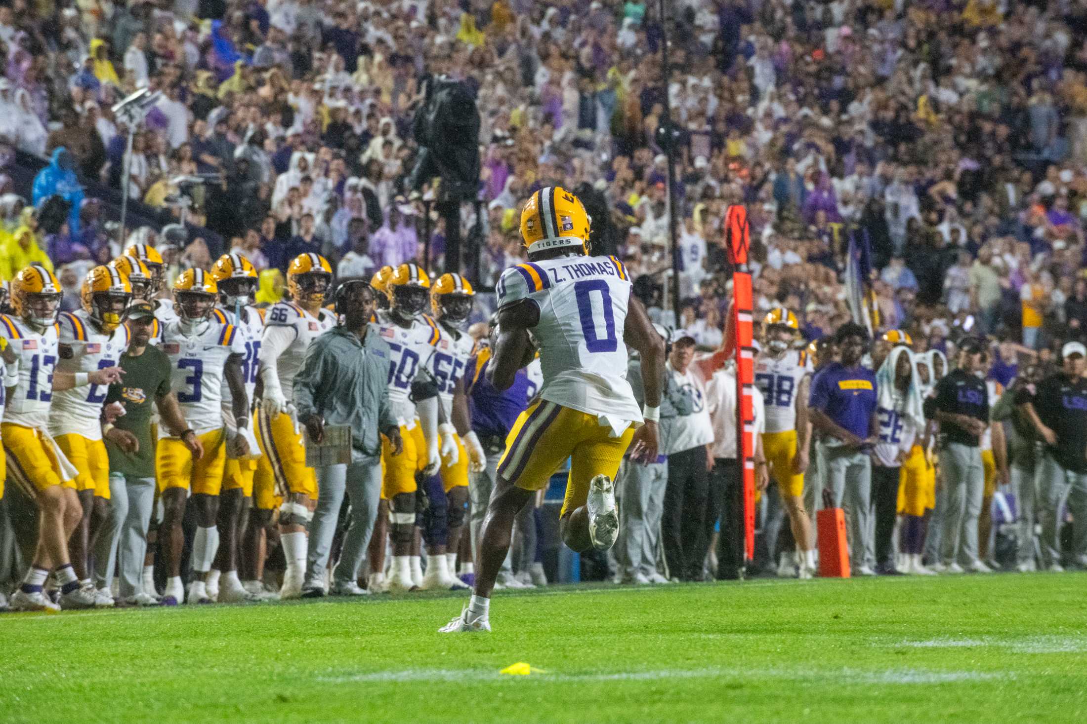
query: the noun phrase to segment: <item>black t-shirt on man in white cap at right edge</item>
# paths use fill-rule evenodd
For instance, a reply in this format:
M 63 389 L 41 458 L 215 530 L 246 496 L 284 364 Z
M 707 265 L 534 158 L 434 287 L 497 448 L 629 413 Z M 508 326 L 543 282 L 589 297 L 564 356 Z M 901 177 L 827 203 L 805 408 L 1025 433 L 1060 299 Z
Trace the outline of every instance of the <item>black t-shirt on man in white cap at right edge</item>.
M 1057 434 L 1057 445 L 1046 445 L 1046 449 L 1058 465 L 1087 472 L 1087 380 L 1051 374 L 1038 383 L 1033 396 L 1026 389 L 1015 394 L 1016 404 L 1027 402 L 1034 403 L 1038 419 Z

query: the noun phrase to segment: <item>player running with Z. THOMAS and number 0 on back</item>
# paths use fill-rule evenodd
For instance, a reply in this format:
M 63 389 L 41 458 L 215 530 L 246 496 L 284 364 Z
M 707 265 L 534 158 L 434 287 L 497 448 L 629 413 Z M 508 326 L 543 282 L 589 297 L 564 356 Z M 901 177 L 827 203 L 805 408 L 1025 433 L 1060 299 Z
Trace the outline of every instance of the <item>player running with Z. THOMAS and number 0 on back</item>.
M 589 223 L 582 202 L 558 187 L 536 191 L 522 211 L 529 261 L 499 279 L 487 374 L 499 390 L 509 388 L 538 346 L 544 385 L 507 439 L 473 595 L 442 633 L 490 631 L 490 594 L 514 518 L 564 460 L 571 459 L 571 468 L 560 529 L 563 542 L 580 552 L 615 543 L 612 481 L 627 447 L 633 445 L 636 461 L 657 459 L 664 341 L 634 299 L 623 264 L 614 256 L 586 256 Z M 626 381 L 627 344 L 642 359 L 640 410 Z

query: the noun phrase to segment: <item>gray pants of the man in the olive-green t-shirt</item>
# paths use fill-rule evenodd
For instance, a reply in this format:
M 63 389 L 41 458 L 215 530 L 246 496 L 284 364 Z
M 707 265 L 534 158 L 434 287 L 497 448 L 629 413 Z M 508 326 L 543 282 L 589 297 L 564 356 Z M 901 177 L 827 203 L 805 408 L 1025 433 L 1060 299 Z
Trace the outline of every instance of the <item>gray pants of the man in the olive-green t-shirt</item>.
M 96 587 L 107 588 L 113 583 L 120 555 L 118 595 L 128 598 L 143 590 L 143 557 L 153 508 L 154 478 L 110 473 L 110 515 L 95 544 Z

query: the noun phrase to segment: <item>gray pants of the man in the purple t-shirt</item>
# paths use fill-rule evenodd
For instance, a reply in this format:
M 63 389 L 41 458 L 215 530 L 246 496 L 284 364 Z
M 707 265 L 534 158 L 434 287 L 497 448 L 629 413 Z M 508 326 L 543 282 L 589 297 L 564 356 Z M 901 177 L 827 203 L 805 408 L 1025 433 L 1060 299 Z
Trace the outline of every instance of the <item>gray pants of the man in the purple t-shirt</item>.
M 816 445 L 823 485 L 836 508 L 846 510 L 850 568 L 876 564 L 875 518 L 872 515 L 872 458 L 839 445 Z

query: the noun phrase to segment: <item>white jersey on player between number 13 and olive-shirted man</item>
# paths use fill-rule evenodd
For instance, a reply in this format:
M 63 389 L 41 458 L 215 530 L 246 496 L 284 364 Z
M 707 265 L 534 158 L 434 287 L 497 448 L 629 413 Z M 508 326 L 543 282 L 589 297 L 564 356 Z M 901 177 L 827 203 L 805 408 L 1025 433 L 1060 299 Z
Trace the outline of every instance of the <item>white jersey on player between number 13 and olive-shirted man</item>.
M 128 328 L 121 325 L 110 333 L 100 332 L 83 309 L 60 314 L 61 372 L 92 372 L 116 367 L 128 348 Z M 90 384 L 58 392 L 49 416 L 49 434 L 77 433 L 87 440 L 101 440 L 99 417 L 109 385 Z

